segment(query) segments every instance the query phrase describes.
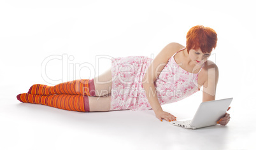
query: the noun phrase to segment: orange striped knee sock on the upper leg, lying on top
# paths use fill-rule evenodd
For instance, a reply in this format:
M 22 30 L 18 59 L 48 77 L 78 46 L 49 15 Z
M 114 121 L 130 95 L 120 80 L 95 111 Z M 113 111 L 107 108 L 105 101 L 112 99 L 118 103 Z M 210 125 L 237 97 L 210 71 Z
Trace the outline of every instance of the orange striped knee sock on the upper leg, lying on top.
M 32 85 L 27 93 L 36 95 L 73 94 L 96 96 L 94 79 L 77 79 L 55 86 L 36 84 Z

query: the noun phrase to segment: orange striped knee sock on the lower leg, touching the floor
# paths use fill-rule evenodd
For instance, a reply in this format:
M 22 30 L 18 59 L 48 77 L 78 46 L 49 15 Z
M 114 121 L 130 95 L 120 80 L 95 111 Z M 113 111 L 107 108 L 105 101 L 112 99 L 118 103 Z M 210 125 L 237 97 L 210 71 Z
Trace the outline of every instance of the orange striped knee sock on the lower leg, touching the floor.
M 29 93 L 22 93 L 17 95 L 17 99 L 20 100 L 20 102 L 42 104 L 68 111 L 90 111 L 89 99 L 86 95 L 33 95 Z

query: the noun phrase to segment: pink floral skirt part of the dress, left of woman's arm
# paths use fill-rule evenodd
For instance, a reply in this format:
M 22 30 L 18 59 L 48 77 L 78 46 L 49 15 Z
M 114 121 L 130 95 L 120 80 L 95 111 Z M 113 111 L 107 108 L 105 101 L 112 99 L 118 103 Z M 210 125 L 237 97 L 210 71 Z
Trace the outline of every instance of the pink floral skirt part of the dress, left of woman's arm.
M 152 62 L 144 56 L 118 57 L 111 60 L 112 88 L 110 110 L 146 110 L 148 100 L 140 98 L 142 79 Z

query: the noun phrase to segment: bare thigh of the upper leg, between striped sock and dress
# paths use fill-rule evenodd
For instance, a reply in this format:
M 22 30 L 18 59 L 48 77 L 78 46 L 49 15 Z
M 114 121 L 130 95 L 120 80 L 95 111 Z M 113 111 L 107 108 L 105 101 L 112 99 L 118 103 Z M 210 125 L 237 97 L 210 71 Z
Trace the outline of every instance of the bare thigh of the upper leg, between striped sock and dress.
M 94 78 L 95 94 L 97 97 L 108 95 L 111 93 L 112 75 L 111 68 L 103 74 Z

